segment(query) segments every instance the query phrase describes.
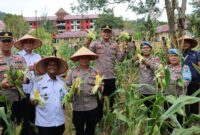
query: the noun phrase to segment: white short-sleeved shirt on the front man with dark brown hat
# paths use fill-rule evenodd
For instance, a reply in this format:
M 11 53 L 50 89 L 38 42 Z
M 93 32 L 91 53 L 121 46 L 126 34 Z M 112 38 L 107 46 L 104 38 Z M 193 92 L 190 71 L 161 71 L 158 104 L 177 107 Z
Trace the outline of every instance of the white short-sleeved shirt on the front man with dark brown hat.
M 62 100 L 67 93 L 66 88 L 65 81 L 59 76 L 56 76 L 56 80 L 52 80 L 48 74 L 44 74 L 35 80 L 31 98 L 33 98 L 33 91 L 37 89 L 45 99 L 44 106 L 36 106 L 35 125 L 57 127 L 65 123 Z

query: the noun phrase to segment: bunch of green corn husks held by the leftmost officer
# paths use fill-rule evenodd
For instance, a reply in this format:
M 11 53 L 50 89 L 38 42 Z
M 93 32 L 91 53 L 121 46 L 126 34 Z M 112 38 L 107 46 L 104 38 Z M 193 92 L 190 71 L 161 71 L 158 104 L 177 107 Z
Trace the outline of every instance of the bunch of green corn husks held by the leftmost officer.
M 21 98 L 25 98 L 25 94 L 21 89 L 21 85 L 23 84 L 24 80 L 24 73 L 21 69 L 15 69 L 13 65 L 9 67 L 9 70 L 5 73 L 6 79 L 9 81 L 11 85 L 13 85 L 16 90 L 19 92 Z

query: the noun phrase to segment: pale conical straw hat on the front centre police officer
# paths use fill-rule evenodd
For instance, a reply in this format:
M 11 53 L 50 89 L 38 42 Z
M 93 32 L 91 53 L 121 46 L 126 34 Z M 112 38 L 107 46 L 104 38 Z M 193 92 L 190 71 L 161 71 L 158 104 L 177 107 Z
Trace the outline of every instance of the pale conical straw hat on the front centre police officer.
M 81 56 L 89 56 L 90 60 L 95 60 L 98 57 L 95 53 L 93 53 L 86 47 L 82 47 L 74 55 L 72 55 L 70 59 L 73 61 L 78 61 L 79 57 Z

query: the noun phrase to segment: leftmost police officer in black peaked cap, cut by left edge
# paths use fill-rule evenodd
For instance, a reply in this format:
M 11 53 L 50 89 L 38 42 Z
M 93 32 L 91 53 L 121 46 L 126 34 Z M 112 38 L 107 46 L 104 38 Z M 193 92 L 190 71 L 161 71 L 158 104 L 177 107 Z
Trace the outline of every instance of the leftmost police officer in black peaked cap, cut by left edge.
M 17 69 L 25 68 L 26 62 L 19 55 L 11 53 L 13 43 L 13 35 L 11 32 L 0 33 L 0 96 L 5 96 L 7 100 L 12 103 L 12 118 L 14 121 L 17 120 L 17 122 L 19 122 L 22 112 L 22 110 L 20 110 L 20 96 L 18 91 L 5 78 L 5 73 L 9 70 L 11 65 Z M 6 109 L 5 102 L 0 102 L 0 106 L 4 106 Z M 5 132 L 5 123 L 1 123 L 1 125 Z

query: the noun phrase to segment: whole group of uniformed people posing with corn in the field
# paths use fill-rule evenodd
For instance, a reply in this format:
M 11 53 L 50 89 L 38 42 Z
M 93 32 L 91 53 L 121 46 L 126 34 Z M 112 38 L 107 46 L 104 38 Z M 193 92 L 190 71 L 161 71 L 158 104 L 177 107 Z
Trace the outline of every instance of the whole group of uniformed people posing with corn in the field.
M 119 45 L 111 40 L 112 27 L 105 25 L 101 27 L 102 40 L 96 40 L 87 47 L 80 48 L 70 60 L 77 62 L 77 66 L 68 70 L 68 64 L 61 58 L 51 56 L 41 58 L 33 52 L 34 49 L 42 45 L 42 41 L 31 35 L 25 35 L 16 42 L 13 41 L 11 32 L 0 33 L 0 96 L 5 96 L 12 102 L 12 120 L 16 123 L 23 121 L 22 135 L 34 135 L 34 123 L 38 129 L 38 135 L 62 135 L 65 130 L 65 114 L 63 98 L 69 92 L 70 87 L 77 78 L 81 78 L 80 92 L 75 90 L 72 98 L 73 124 L 76 135 L 94 135 L 96 124 L 103 117 L 103 101 L 96 94 L 91 93 L 95 86 L 96 75 L 103 76 L 103 84 L 99 87 L 103 96 L 110 97 L 110 107 L 112 110 L 116 90 L 115 64 L 116 61 L 123 61 L 127 55 L 119 49 Z M 199 89 L 199 74 L 192 64 L 200 66 L 200 53 L 191 50 L 197 45 L 197 41 L 190 37 L 183 37 L 184 40 L 184 66 L 180 65 L 180 52 L 177 49 L 168 51 L 168 67 L 171 73 L 170 90 L 164 94 L 191 95 Z M 12 46 L 21 51 L 17 55 L 12 54 Z M 142 61 L 135 59 L 135 64 L 140 70 L 140 83 L 155 85 L 154 72 L 159 67 L 160 60 L 151 55 L 152 45 L 149 42 L 141 43 L 141 53 L 144 57 Z M 90 66 L 90 61 L 96 60 L 96 67 Z M 16 88 L 5 77 L 9 66 L 16 69 L 25 70 L 29 68 L 30 75 L 24 79 L 22 86 L 26 95 L 21 98 Z M 63 78 L 63 74 L 67 75 Z M 174 90 L 174 81 L 184 79 L 182 91 L 177 86 Z M 187 90 L 187 91 L 186 91 Z M 39 92 L 44 99 L 44 104 L 35 98 L 35 92 Z M 141 88 L 143 96 L 156 94 L 156 90 L 147 87 Z M 145 103 L 147 107 L 151 102 Z M 6 108 L 4 101 L 0 102 L 0 107 Z M 189 113 L 198 114 L 198 104 L 188 108 Z M 196 112 L 193 112 L 193 111 Z M 3 133 L 6 134 L 6 124 L 0 121 Z

